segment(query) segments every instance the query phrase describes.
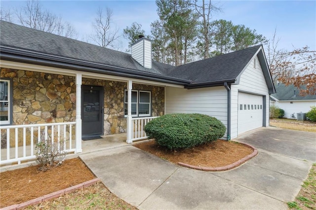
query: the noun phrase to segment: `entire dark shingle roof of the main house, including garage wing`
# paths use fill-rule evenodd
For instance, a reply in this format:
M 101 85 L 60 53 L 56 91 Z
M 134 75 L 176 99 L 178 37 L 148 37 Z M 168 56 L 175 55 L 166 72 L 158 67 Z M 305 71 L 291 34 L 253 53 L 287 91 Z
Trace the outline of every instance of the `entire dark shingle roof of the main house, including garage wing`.
M 152 69 L 147 69 L 128 53 L 5 21 L 0 23 L 1 59 L 162 81 L 185 85 L 187 88 L 234 83 L 255 53 L 262 48 L 261 45 L 249 47 L 178 67 L 153 61 Z M 267 76 L 270 75 L 269 69 L 265 71 L 266 80 L 270 80 L 270 76 Z

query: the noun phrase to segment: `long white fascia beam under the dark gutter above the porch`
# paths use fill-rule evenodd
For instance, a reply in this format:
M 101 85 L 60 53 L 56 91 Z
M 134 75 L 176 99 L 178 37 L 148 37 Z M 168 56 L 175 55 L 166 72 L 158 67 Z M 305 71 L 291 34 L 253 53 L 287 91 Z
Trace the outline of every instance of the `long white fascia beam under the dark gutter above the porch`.
M 149 81 L 149 80 L 143 80 L 143 79 L 133 79 L 133 78 L 128 78 L 128 77 L 113 76 L 113 75 L 99 74 L 99 73 L 92 73 L 92 72 L 85 72 L 85 71 L 68 70 L 68 69 L 61 69 L 61 68 L 55 68 L 55 67 L 47 67 L 47 66 L 40 66 L 40 65 L 34 65 L 34 64 L 5 61 L 5 60 L 0 60 L 0 66 L 1 68 L 38 71 L 38 72 L 44 72 L 44 73 L 55 73 L 55 74 L 62 74 L 62 75 L 68 75 L 68 76 L 76 76 L 78 73 L 80 73 L 82 74 L 82 77 L 92 78 L 92 79 L 104 79 L 104 80 L 113 80 L 113 81 L 122 81 L 122 82 L 127 82 L 128 80 L 132 80 L 133 83 L 156 85 L 156 86 L 163 86 L 163 87 L 169 86 L 169 87 L 184 88 L 183 85 L 175 85 L 175 84 L 168 84 L 168 83 L 163 83 L 163 82 L 155 82 L 155 81 Z

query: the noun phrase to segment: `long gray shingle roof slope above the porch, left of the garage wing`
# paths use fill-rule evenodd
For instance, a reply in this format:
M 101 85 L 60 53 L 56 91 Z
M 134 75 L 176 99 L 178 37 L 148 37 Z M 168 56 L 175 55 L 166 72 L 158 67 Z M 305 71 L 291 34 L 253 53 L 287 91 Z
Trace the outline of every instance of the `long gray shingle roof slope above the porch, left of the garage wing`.
M 157 64 L 158 62 L 153 62 L 153 68 L 147 69 L 132 59 L 128 53 L 111 50 L 4 21 L 1 21 L 0 27 L 1 46 L 14 47 L 48 55 L 157 74 L 161 74 L 159 69 L 165 68 Z

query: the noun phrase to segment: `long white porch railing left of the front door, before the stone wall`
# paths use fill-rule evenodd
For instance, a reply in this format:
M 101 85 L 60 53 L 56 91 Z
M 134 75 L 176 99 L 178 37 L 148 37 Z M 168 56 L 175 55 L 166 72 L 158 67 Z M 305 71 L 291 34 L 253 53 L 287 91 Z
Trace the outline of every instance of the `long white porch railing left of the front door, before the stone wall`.
M 35 159 L 40 140 L 63 142 L 58 149 L 76 152 L 73 125 L 76 122 L 0 126 L 0 165 Z

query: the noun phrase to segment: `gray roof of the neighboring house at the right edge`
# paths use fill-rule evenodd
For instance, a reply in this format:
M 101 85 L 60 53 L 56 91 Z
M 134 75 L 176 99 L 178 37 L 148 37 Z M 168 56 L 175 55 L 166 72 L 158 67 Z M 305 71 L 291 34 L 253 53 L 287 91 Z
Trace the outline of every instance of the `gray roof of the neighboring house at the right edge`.
M 279 101 L 299 101 L 299 100 L 316 100 L 316 95 L 300 96 L 300 91 L 294 85 L 284 85 L 278 83 L 276 86 L 276 93 L 271 96 Z M 306 89 L 305 86 L 301 86 L 302 89 Z M 294 97 L 295 90 L 295 97 Z

